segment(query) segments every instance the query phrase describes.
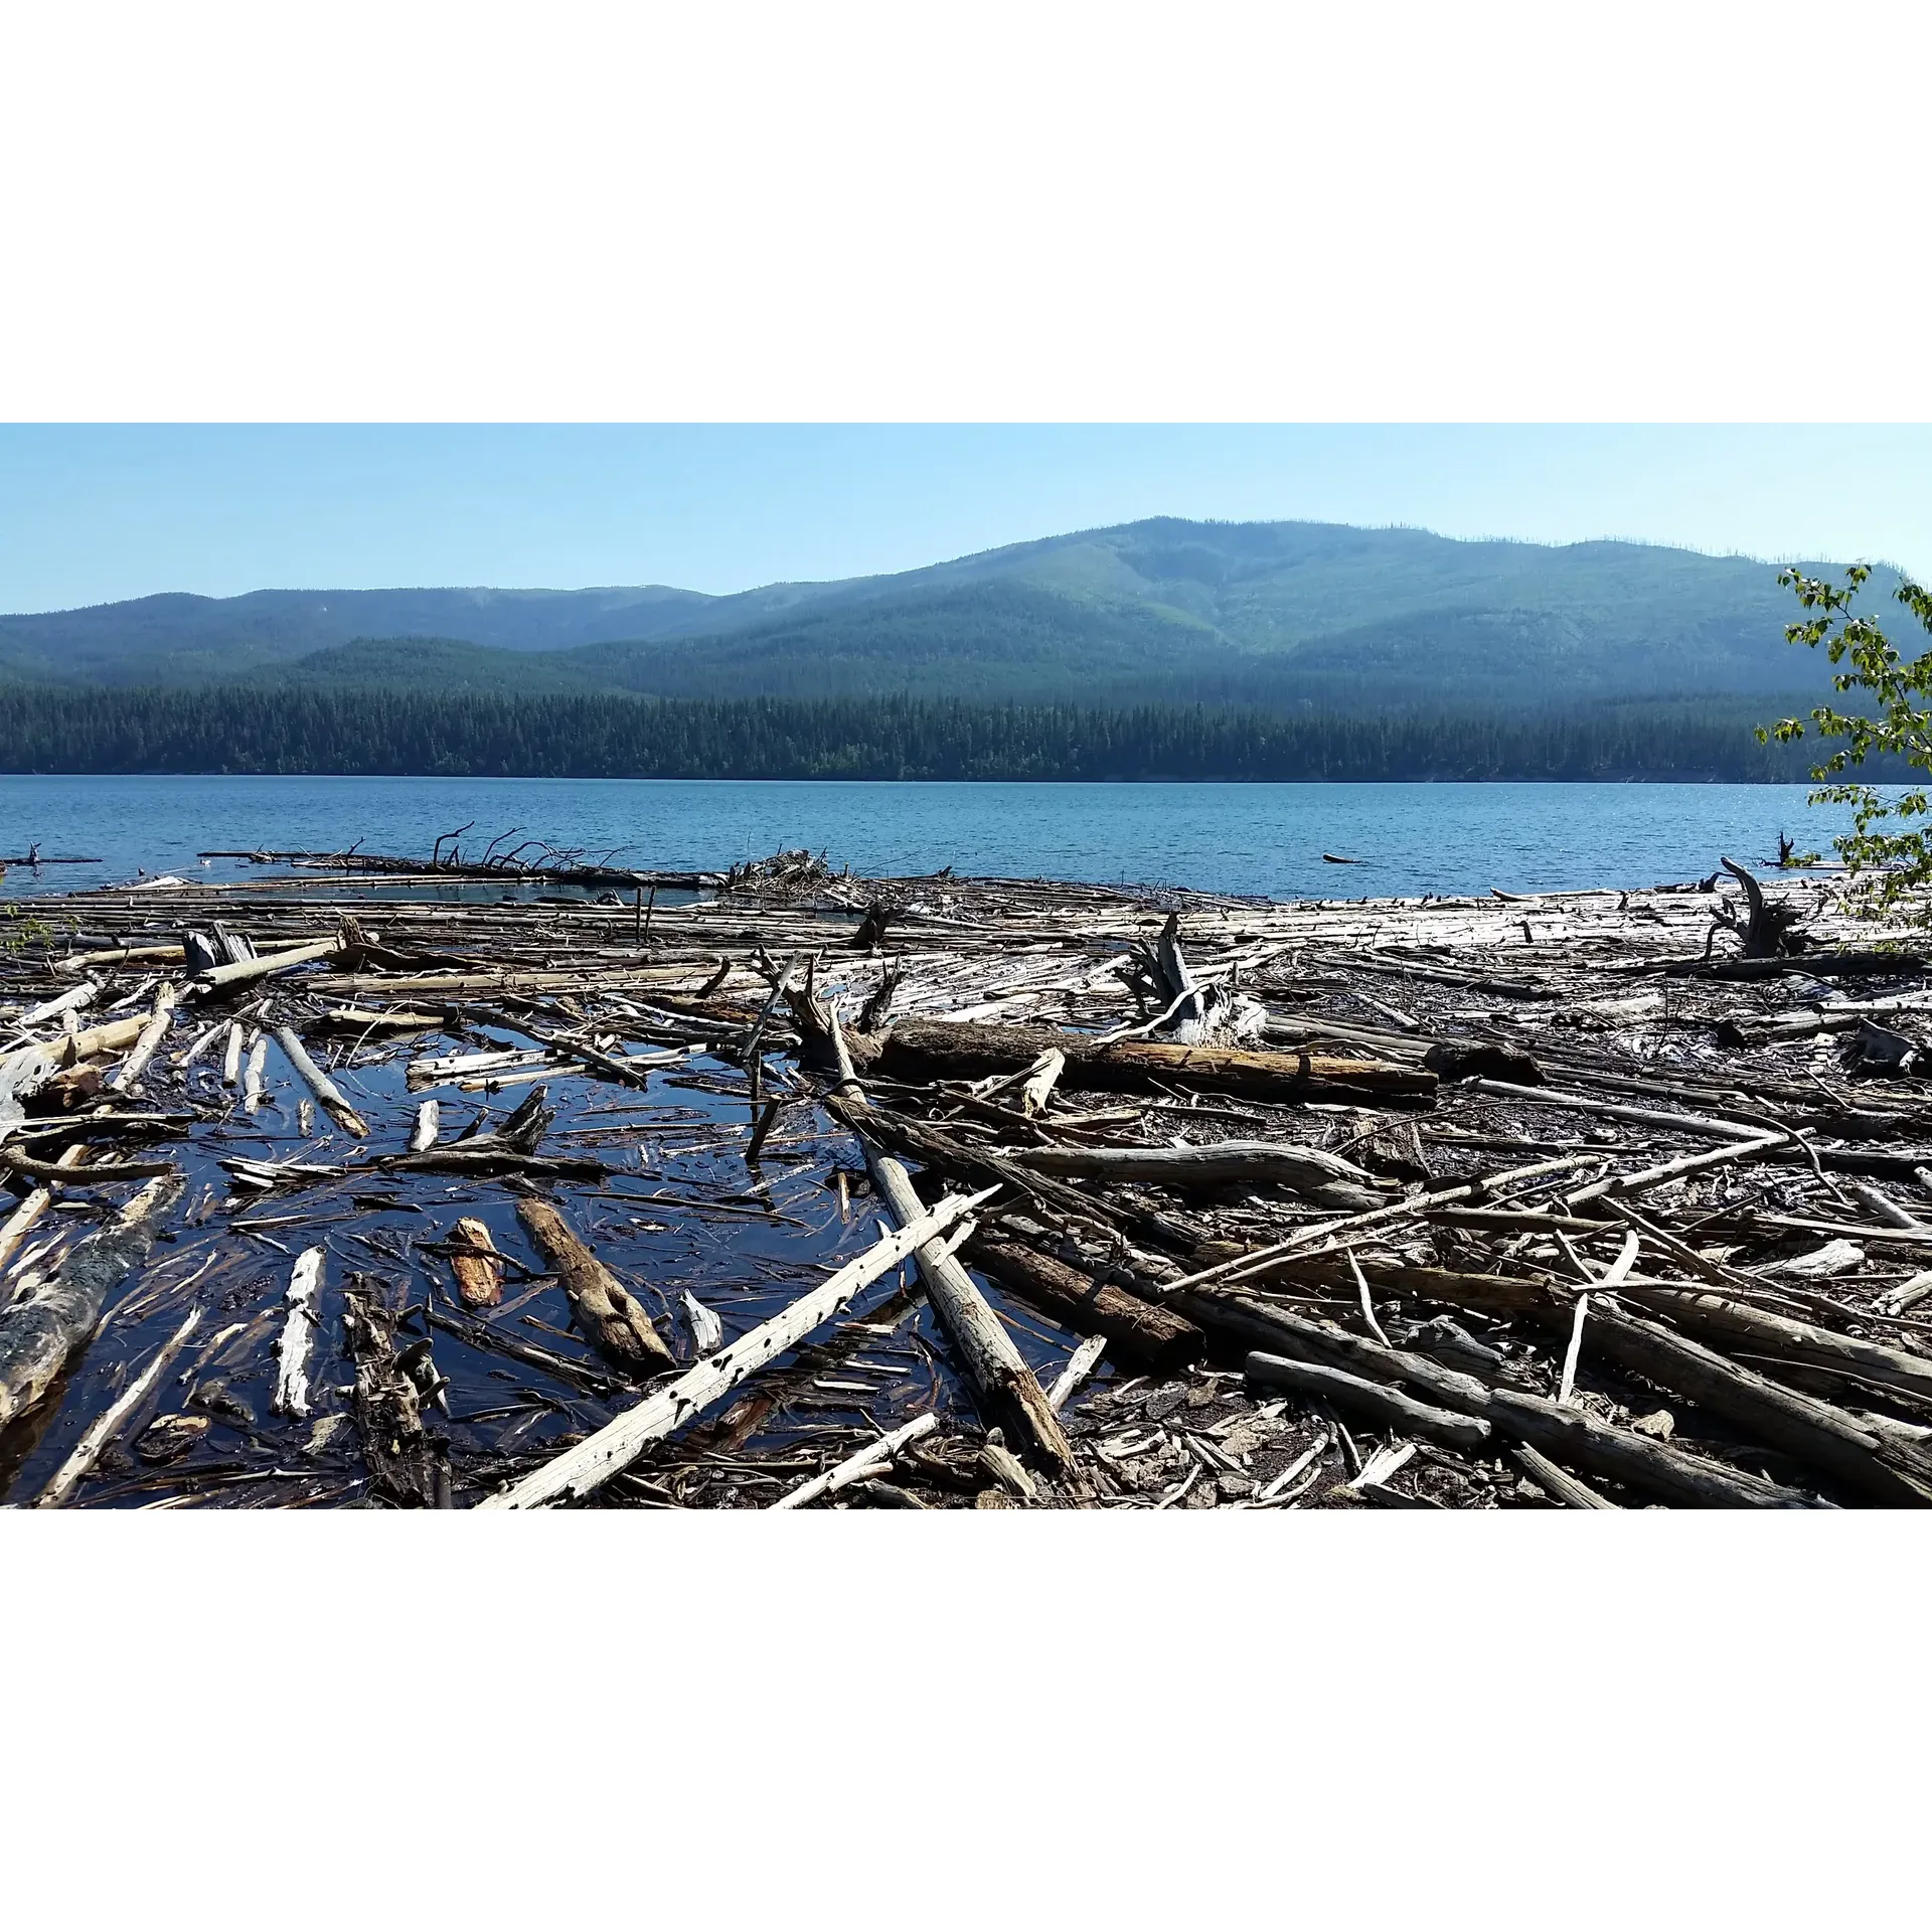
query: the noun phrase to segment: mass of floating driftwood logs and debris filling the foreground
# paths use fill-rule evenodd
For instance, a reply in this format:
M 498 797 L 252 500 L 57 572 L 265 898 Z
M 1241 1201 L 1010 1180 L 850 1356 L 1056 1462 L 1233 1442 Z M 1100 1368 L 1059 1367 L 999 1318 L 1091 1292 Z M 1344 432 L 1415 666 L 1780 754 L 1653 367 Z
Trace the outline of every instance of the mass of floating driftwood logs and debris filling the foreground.
M 1826 881 L 583 871 L 37 902 L 6 1501 L 1932 1501 L 1932 964 Z

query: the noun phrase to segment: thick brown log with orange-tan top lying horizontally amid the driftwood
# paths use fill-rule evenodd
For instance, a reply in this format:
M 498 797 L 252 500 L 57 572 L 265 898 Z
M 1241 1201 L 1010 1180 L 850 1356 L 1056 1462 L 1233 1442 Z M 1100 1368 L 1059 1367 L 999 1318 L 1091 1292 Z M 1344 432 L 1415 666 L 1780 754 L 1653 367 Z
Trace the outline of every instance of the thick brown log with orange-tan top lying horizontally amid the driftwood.
M 1188 1047 L 1165 1039 L 1101 1045 L 1084 1034 L 1039 1026 L 980 1026 L 962 1020 L 900 1020 L 887 1032 L 854 1036 L 860 1072 L 877 1066 L 895 1080 L 980 1080 L 1030 1066 L 1047 1049 L 1066 1057 L 1066 1084 L 1144 1094 L 1155 1082 L 1246 1094 L 1254 1099 L 1360 1099 L 1430 1105 L 1435 1074 L 1385 1061 L 1345 1061 L 1316 1053 L 1260 1053 L 1246 1047 Z

